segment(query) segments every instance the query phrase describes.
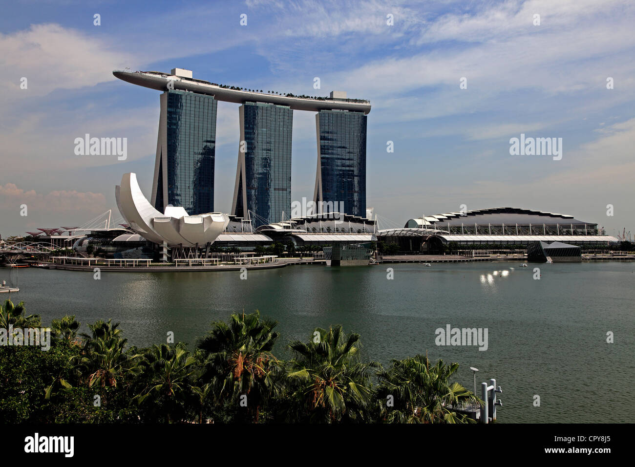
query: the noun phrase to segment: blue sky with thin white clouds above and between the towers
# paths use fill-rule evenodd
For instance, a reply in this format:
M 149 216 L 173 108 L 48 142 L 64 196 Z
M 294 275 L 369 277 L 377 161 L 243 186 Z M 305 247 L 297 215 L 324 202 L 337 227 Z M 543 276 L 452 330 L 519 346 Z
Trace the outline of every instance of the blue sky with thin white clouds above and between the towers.
M 112 76 L 125 67 L 370 99 L 367 204 L 394 222 L 382 227 L 465 204 L 635 231 L 633 24 L 626 0 L 5 3 L 0 234 L 116 212 L 125 172 L 136 172 L 149 196 L 159 92 Z M 293 200 L 313 194 L 314 122 L 312 112 L 294 112 Z M 76 156 L 84 133 L 127 137 L 128 158 Z M 520 133 L 562 138 L 563 158 L 512 156 L 509 140 Z M 238 106 L 220 102 L 218 211 L 231 209 L 238 144 Z

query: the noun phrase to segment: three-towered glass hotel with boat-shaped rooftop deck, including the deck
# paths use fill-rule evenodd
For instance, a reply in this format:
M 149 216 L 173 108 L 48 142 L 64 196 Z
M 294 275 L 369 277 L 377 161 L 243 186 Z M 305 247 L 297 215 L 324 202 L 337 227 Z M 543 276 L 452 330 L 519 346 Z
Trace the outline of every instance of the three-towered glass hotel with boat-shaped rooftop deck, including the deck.
M 163 212 L 182 206 L 190 214 L 213 212 L 213 178 L 218 100 L 241 104 L 241 141 L 232 214 L 267 224 L 291 209 L 291 124 L 293 110 L 316 114 L 318 170 L 314 201 L 324 212 L 366 215 L 366 120 L 370 102 L 247 90 L 192 78 L 172 69 L 114 71 L 114 76 L 159 91 L 161 117 L 152 205 Z M 342 204 L 340 204 L 342 203 Z M 344 206 L 340 208 L 340 206 Z M 323 203 L 319 203 L 319 208 Z M 253 219 L 251 218 L 253 214 Z

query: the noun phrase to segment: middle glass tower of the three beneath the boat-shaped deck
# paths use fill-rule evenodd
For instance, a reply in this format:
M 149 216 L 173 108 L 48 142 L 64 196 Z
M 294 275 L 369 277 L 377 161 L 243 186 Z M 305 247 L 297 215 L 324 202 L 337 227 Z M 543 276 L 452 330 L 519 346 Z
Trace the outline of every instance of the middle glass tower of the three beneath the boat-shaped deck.
M 293 111 L 285 105 L 245 102 L 239 108 L 241 142 L 232 213 L 254 227 L 291 213 Z

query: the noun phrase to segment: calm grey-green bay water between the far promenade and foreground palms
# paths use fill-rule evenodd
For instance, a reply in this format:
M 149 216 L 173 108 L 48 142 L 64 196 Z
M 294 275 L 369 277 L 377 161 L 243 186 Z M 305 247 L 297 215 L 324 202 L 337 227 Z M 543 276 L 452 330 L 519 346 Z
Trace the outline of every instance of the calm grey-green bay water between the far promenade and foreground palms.
M 280 323 L 274 351 L 283 357 L 289 339 L 341 323 L 361 334 L 366 356 L 384 364 L 427 351 L 460 363 L 457 379 L 467 388 L 469 367 L 480 369 L 478 384 L 496 378 L 500 422 L 632 422 L 635 263 L 542 264 L 541 280 L 532 278 L 534 265 L 518 263 L 289 266 L 249 271 L 248 280 L 237 271 L 102 272 L 93 280 L 88 272 L 28 268 L 18 272 L 21 290 L 11 299 L 47 323 L 64 314 L 82 323 L 121 321 L 139 346 L 164 342 L 168 331 L 194 346 L 211 321 L 260 309 Z M 0 269 L 2 278 L 8 269 Z M 447 324 L 488 328 L 488 350 L 436 346 L 435 330 Z

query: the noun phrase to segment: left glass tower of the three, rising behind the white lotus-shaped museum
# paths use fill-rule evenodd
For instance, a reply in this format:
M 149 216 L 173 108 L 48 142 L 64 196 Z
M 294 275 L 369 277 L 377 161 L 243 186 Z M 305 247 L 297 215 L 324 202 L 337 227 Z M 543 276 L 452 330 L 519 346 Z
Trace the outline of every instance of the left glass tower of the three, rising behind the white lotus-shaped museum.
M 182 206 L 190 215 L 214 210 L 217 100 L 168 90 L 161 95 L 152 203 Z

